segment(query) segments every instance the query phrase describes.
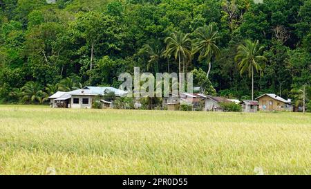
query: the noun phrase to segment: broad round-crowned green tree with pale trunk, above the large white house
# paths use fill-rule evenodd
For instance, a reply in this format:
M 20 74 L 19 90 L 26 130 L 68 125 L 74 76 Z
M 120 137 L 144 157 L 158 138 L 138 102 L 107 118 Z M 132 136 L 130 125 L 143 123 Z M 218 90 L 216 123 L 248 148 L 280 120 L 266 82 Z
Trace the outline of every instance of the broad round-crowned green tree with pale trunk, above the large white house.
M 102 55 L 109 55 L 115 51 L 122 53 L 120 46 L 124 45 L 122 39 L 126 32 L 114 18 L 100 12 L 79 12 L 77 14 L 77 20 L 73 23 L 73 34 L 77 38 L 77 42 L 86 41 L 79 51 L 82 53 L 91 51 L 90 70 L 93 69 L 95 50 Z

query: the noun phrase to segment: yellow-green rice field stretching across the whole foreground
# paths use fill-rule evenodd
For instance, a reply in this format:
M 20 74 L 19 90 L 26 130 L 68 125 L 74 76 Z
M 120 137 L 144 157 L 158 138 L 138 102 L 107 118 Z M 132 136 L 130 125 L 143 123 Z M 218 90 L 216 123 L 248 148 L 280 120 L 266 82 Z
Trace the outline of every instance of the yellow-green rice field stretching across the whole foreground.
M 0 174 L 311 174 L 311 114 L 0 105 Z

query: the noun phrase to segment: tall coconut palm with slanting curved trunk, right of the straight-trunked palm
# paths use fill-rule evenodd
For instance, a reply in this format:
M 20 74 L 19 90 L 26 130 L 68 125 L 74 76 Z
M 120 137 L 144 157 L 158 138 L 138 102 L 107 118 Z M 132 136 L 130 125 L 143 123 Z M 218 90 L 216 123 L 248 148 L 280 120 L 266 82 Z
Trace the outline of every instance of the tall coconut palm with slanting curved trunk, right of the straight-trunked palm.
M 194 44 L 193 53 L 200 53 L 198 56 L 198 61 L 202 62 L 205 60 L 208 64 L 207 78 L 209 78 L 209 72 L 211 71 L 211 59 L 213 57 L 218 58 L 220 55 L 220 50 L 216 45 L 217 39 L 220 38 L 218 31 L 214 30 L 213 26 L 205 25 L 200 28 L 197 28 L 194 32 L 194 35 L 197 37 Z

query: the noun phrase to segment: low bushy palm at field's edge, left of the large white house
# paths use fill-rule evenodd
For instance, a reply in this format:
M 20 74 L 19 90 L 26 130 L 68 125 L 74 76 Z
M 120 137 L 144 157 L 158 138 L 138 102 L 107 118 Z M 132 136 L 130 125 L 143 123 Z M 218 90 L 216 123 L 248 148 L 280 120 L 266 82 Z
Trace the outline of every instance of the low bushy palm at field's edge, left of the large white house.
M 35 102 L 36 100 L 41 104 L 48 99 L 48 94 L 41 90 L 41 86 L 37 82 L 27 82 L 23 87 L 22 101 Z

